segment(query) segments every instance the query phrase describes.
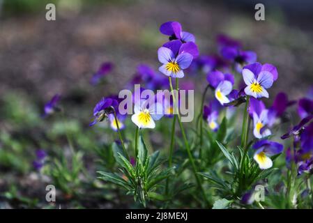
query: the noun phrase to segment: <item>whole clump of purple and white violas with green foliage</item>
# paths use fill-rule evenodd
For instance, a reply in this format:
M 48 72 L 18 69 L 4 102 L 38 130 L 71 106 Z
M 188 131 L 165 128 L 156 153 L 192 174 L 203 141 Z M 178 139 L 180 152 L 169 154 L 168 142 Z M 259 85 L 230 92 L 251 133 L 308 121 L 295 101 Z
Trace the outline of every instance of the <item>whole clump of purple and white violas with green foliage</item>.
M 93 109 L 90 128 L 111 128 L 116 138 L 106 148 L 113 164 L 104 162 L 110 166 L 99 169 L 97 178 L 139 207 L 312 208 L 313 91 L 298 101 L 283 92 L 274 95 L 275 65 L 259 62 L 256 52 L 228 36 L 218 36 L 217 53 L 205 55 L 179 22 L 165 22 L 160 33 L 167 41 L 155 50 L 159 65 L 139 64 L 125 85 L 140 84 L 140 93 L 156 96 L 132 96 L 131 114 L 125 114 L 116 91 Z M 103 63 L 91 84 L 101 84 L 113 68 L 112 62 Z M 188 84 L 192 79 L 197 87 Z M 183 95 L 173 92 L 192 85 L 201 100 L 195 100 L 193 121 L 183 123 Z M 172 92 L 171 100 L 158 90 Z M 55 95 L 45 105 L 45 118 L 60 112 L 59 100 Z M 291 118 L 295 107 L 299 121 Z M 81 155 L 72 148 L 72 156 L 81 171 Z M 34 168 L 43 168 L 46 157 L 37 151 Z M 56 161 L 50 174 L 57 180 L 64 169 L 66 161 Z M 67 174 L 75 182 L 77 171 Z M 260 187 L 264 199 L 258 199 Z

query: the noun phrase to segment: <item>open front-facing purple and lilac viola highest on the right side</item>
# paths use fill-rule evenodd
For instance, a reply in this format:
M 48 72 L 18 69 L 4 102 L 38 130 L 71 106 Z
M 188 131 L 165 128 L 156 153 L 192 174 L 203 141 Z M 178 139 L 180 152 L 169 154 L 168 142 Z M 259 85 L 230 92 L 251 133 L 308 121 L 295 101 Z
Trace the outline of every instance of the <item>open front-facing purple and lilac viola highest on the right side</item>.
M 245 93 L 254 98 L 268 98 L 266 89 L 277 79 L 277 69 L 271 64 L 252 63 L 243 68 L 243 80 L 247 85 Z

